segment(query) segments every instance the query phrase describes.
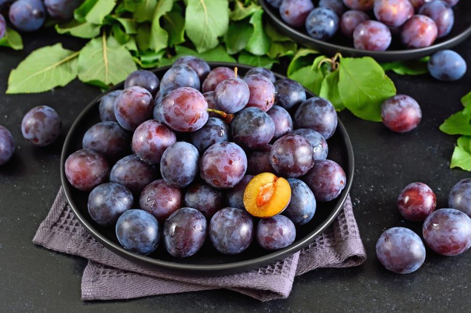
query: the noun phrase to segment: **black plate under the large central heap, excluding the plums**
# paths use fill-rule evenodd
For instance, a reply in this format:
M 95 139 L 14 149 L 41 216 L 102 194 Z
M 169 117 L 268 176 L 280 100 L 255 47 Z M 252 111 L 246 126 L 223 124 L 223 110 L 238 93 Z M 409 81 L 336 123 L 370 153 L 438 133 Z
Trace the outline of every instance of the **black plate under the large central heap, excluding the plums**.
M 230 63 L 212 63 L 211 68 L 218 66 L 234 67 Z M 239 73 L 244 75 L 251 67 L 237 65 Z M 159 78 L 169 67 L 160 68 L 155 71 Z M 276 75 L 278 79 L 285 78 Z M 119 84 L 115 89 L 122 89 L 123 84 Z M 306 225 L 297 227 L 296 240 L 290 246 L 278 251 L 270 252 L 261 249 L 257 243 L 253 242 L 251 246 L 239 255 L 226 256 L 218 253 L 209 240 L 206 240 L 202 249 L 194 256 L 185 259 L 173 258 L 166 251 L 161 243 L 157 250 L 149 256 L 141 256 L 124 249 L 115 235 L 114 227 L 105 228 L 95 223 L 87 210 L 87 192 L 76 190 L 68 182 L 64 164 L 67 157 L 82 148 L 82 137 L 84 133 L 93 124 L 100 121 L 99 102 L 103 95 L 93 100 L 77 117 L 73 123 L 62 149 L 61 156 L 61 180 L 67 200 L 80 223 L 89 231 L 89 233 L 100 241 L 105 247 L 118 254 L 119 256 L 137 262 L 141 265 L 175 272 L 180 274 L 195 275 L 222 275 L 236 272 L 244 272 L 258 267 L 266 266 L 292 255 L 312 242 L 318 235 L 326 229 L 339 214 L 342 205 L 350 191 L 353 179 L 353 149 L 347 131 L 342 122 L 339 125 L 334 136 L 328 140 L 329 153 L 328 158 L 339 163 L 347 174 L 347 185 L 345 189 L 334 201 L 328 203 L 318 203 L 314 218 Z M 308 97 L 312 94 L 308 92 Z

